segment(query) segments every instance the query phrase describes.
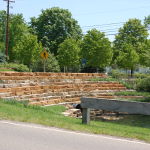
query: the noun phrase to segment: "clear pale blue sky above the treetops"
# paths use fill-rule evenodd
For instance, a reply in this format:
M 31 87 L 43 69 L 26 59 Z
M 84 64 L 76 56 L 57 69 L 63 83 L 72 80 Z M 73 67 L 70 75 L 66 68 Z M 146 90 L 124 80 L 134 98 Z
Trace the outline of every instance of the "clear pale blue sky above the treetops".
M 114 39 L 118 28 L 131 18 L 144 20 L 150 15 L 150 0 L 15 0 L 10 13 L 22 13 L 26 22 L 38 17 L 41 10 L 51 7 L 68 9 L 81 26 L 83 33 L 92 28 L 105 32 Z M 0 0 L 0 10 L 6 10 L 6 2 Z

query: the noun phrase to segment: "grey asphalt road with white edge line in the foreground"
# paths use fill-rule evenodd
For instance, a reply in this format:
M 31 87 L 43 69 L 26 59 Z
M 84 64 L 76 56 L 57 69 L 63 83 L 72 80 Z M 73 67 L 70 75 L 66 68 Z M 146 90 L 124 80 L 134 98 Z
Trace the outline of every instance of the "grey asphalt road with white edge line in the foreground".
M 150 144 L 1 120 L 0 150 L 150 150 Z

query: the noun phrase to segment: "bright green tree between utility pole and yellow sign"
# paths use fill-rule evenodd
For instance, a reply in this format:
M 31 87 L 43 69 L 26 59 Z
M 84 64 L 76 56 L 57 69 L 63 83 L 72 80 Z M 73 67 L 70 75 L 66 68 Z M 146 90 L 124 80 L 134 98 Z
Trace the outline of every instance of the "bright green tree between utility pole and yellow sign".
M 15 60 L 29 68 L 40 57 L 42 50 L 42 44 L 39 44 L 37 37 L 32 34 L 24 35 L 13 48 Z

